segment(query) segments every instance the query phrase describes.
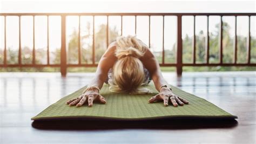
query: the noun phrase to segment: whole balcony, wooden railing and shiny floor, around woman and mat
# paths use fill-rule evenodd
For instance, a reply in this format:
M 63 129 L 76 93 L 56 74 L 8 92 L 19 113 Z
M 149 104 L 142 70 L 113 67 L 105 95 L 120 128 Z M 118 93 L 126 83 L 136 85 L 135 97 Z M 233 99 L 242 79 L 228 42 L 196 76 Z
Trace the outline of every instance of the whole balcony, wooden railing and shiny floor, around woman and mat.
M 0 73 L 0 143 L 54 143 L 63 136 L 69 143 L 255 142 L 255 71 L 183 72 L 187 66 L 255 70 L 255 23 L 256 13 L 0 13 L 0 68 L 39 71 Z M 95 68 L 107 45 L 121 35 L 137 35 L 161 67 L 176 68 L 176 73 L 163 72 L 168 83 L 238 115 L 238 125 L 107 131 L 32 128 L 32 116 L 95 76 L 83 72 L 65 77 L 69 68 Z M 63 77 L 41 73 L 42 68 L 57 68 Z

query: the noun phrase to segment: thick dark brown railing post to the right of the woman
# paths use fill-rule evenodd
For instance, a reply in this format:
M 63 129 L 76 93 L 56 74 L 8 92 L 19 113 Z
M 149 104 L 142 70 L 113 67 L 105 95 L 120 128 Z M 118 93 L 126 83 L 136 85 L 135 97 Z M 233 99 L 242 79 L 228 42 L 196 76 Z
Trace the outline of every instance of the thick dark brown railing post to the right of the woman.
M 182 23 L 181 23 L 182 15 L 177 16 L 177 65 L 176 71 L 177 76 L 180 77 L 182 75 Z

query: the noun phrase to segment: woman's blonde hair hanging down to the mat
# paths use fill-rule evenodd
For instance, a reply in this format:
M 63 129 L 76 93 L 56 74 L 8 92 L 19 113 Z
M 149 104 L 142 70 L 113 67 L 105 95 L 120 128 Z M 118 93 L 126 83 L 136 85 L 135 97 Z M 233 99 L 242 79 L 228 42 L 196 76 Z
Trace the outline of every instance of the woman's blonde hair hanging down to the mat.
M 120 36 L 116 39 L 117 62 L 113 66 L 113 76 L 109 80 L 111 92 L 126 92 L 130 94 L 151 93 L 144 85 L 144 66 L 139 60 L 145 52 L 144 43 L 136 36 Z

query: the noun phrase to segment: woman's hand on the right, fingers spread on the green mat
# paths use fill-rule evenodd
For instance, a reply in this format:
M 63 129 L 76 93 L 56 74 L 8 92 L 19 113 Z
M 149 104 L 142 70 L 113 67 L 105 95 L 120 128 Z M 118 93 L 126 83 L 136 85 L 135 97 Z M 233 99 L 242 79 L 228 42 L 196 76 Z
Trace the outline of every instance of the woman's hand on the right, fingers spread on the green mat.
M 178 104 L 183 106 L 184 104 L 188 104 L 189 102 L 183 98 L 178 97 L 178 95 L 174 94 L 169 88 L 162 87 L 160 93 L 154 95 L 149 99 L 149 102 L 154 101 L 162 101 L 164 100 L 164 106 L 168 106 L 169 99 L 173 106 L 177 107 Z

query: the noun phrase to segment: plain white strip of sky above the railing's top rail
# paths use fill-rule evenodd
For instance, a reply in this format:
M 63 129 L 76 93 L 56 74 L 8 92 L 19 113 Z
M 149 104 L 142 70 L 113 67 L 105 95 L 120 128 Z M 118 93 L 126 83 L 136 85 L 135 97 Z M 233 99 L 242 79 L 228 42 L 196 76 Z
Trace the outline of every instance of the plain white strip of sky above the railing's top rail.
M 0 0 L 0 12 L 255 12 L 255 1 Z M 1 8 L 2 7 L 2 8 Z

